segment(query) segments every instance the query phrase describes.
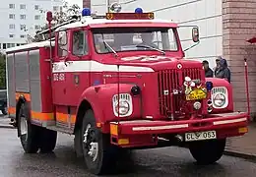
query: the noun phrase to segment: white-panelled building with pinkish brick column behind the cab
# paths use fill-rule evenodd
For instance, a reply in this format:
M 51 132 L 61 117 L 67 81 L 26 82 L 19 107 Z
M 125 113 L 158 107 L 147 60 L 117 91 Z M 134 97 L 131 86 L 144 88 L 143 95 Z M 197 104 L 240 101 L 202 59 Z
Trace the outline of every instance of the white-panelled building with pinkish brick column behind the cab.
M 154 12 L 156 18 L 172 20 L 180 26 L 196 25 L 200 29 L 200 44 L 185 52 L 186 58 L 208 60 L 215 66 L 217 56 L 223 56 L 231 70 L 231 85 L 235 110 L 246 111 L 244 58 L 248 59 L 251 113 L 256 113 L 256 47 L 246 42 L 256 34 L 256 1 L 251 0 L 112 0 L 122 5 L 123 12 Z M 84 7 L 98 15 L 106 12 L 106 0 L 84 0 Z M 109 3 L 109 4 L 111 4 Z M 191 29 L 180 28 L 183 48 L 192 45 Z

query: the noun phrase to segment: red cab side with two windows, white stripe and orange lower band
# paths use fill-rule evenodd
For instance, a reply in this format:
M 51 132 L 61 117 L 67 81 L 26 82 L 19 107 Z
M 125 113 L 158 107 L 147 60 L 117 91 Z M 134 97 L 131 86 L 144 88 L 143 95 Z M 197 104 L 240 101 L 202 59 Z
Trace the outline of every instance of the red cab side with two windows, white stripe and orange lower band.
M 65 37 L 66 36 L 66 39 Z M 53 72 L 53 100 L 56 126 L 72 131 L 81 94 L 90 86 L 90 54 L 88 31 L 69 29 L 58 32 L 55 70 Z

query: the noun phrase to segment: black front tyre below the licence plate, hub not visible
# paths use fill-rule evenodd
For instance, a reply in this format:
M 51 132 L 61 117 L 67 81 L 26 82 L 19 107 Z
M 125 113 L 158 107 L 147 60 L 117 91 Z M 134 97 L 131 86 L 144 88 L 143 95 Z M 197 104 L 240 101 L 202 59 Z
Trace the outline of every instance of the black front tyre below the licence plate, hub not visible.
M 218 161 L 224 154 L 225 139 L 193 142 L 189 145 L 192 156 L 199 164 L 207 165 Z

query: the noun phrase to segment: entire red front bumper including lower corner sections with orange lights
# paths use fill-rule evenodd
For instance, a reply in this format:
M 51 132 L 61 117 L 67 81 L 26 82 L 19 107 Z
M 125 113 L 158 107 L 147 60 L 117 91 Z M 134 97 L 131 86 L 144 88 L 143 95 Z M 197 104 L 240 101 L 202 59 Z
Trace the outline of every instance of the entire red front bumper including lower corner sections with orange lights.
M 185 133 L 216 131 L 217 139 L 247 133 L 247 113 L 213 114 L 210 118 L 184 121 L 133 120 L 110 122 L 111 144 L 122 148 L 159 145 L 158 135 L 184 136 Z

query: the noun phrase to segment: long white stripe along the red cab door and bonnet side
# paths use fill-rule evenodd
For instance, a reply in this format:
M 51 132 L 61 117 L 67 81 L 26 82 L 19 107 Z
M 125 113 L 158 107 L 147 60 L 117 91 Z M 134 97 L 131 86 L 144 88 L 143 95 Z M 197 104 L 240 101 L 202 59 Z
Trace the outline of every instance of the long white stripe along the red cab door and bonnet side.
M 108 65 L 96 61 L 69 61 L 53 63 L 53 73 L 69 72 L 117 72 L 117 65 Z M 120 66 L 120 72 L 154 72 L 152 68 L 140 66 Z

